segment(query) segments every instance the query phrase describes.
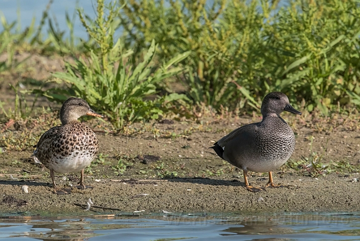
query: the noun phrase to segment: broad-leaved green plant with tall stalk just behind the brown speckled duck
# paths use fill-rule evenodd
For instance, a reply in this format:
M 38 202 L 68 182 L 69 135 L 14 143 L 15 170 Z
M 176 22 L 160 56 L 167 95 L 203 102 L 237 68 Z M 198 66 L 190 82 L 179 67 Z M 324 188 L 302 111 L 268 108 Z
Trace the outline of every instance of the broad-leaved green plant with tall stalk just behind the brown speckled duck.
M 66 99 L 66 95 L 79 96 L 97 111 L 106 114 L 116 128 L 142 118 L 158 118 L 165 110 L 164 107 L 161 109 L 163 104 L 184 96 L 172 94 L 154 100 L 145 98 L 156 94 L 156 83 L 182 72 L 183 68 L 172 65 L 190 53 L 177 54 L 159 65 L 153 60 L 157 45 L 152 41 L 142 57 L 135 56 L 133 50 L 123 48 L 120 39 L 114 41 L 118 24 L 114 15 L 119 8 L 109 4 L 106 9 L 107 15 L 104 13 L 104 1 L 98 0 L 95 21 L 87 21 L 88 17 L 78 10 L 82 25 L 96 44 L 86 46 L 90 53 L 88 58 L 66 62 L 65 73 L 53 74 L 69 84 L 65 94 L 55 94 L 53 89 L 44 94 L 57 100 Z M 137 61 L 140 57 L 141 61 Z

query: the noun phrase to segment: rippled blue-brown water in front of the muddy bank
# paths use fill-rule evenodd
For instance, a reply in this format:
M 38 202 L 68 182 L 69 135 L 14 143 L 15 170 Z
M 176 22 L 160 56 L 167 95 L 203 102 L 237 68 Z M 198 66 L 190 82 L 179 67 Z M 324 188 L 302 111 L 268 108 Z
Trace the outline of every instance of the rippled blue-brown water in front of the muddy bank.
M 22 240 L 360 240 L 360 213 L 2 218 L 0 238 Z M 105 238 L 105 239 L 104 239 Z

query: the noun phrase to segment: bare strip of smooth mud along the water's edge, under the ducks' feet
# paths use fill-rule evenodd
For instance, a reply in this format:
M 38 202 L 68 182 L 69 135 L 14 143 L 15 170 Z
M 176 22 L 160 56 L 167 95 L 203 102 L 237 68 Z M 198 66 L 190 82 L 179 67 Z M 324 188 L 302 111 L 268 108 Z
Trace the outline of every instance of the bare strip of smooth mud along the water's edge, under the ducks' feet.
M 97 180 L 87 178 L 94 189 L 72 189 L 69 195 L 52 193 L 49 180 L 1 180 L 1 212 L 48 215 L 78 214 L 89 198 L 94 205 L 118 208 L 125 212 L 322 212 L 358 211 L 359 174 L 331 174 L 311 178 L 282 175 L 275 180 L 283 188 L 265 188 L 266 191 L 251 193 L 239 178 L 197 178 L 172 180 Z M 15 177 L 17 178 L 17 177 Z M 3 178 L 4 179 L 4 178 Z M 251 178 L 253 185 L 263 186 L 264 178 Z M 61 185 L 64 181 L 57 178 Z M 118 181 L 114 181 L 118 180 Z M 122 181 L 121 181 L 122 180 Z M 99 182 L 98 182 L 99 181 Z M 27 185 L 29 193 L 23 193 Z M 146 194 L 146 195 L 145 195 Z M 9 197 L 13 198 L 9 201 Z M 7 199 L 6 199 L 7 198 Z M 24 202 L 25 201 L 25 202 Z M 102 213 L 121 211 L 92 208 Z M 89 211 L 92 212 L 92 211 Z M 88 212 L 84 211 L 84 214 Z

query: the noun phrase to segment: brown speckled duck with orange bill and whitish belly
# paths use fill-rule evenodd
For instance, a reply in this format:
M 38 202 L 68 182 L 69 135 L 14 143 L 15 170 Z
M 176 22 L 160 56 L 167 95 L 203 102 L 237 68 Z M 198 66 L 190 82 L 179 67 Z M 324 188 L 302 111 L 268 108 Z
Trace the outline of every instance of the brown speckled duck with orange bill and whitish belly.
M 99 149 L 99 141 L 95 133 L 77 121 L 82 115 L 104 117 L 95 113 L 88 103 L 71 97 L 62 105 L 60 119 L 62 126 L 53 127 L 45 132 L 38 142 L 34 156 L 45 167 L 50 169 L 50 176 L 57 194 L 68 194 L 70 189 L 59 189 L 54 181 L 54 172 L 69 173 L 81 171 L 78 188 L 85 189 L 83 183 L 84 168 L 94 160 Z

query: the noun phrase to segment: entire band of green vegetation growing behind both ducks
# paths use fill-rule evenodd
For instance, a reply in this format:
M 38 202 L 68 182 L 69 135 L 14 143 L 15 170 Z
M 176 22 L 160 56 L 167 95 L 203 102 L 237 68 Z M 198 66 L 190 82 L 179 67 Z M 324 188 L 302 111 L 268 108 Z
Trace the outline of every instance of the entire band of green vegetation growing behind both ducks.
M 35 27 L 33 19 L 25 31 L 1 16 L 0 54 L 7 57 L 0 72 L 24 63 L 16 58 L 19 50 L 76 54 L 66 73 L 54 74 L 68 88 L 34 93 L 61 102 L 69 95 L 82 97 L 116 129 L 169 111 L 180 115 L 176 118 L 194 118 L 204 107 L 258 109 L 270 91 L 286 93 L 298 107 L 304 99 L 304 108 L 324 115 L 337 104 L 360 106 L 357 0 L 288 0 L 282 8 L 279 1 L 265 0 L 98 0 L 96 19 L 77 10 L 90 37 L 81 43 L 73 31 L 75 13 L 65 14 L 66 38 L 49 17 L 51 3 L 40 25 Z M 46 23 L 49 31 L 43 36 Z M 165 83 L 175 78 L 187 97 Z M 33 109 L 22 111 L 7 113 L 23 118 Z

